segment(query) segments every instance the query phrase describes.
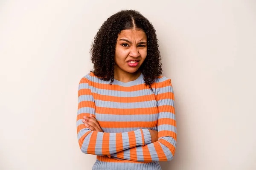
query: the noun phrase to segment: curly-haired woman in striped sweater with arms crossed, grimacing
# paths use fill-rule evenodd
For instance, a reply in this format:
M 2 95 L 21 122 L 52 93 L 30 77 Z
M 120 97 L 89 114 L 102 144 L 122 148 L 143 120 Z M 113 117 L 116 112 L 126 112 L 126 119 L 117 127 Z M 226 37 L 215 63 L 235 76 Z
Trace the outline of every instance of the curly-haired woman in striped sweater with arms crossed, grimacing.
M 174 94 L 162 74 L 154 27 L 139 12 L 109 17 L 79 83 L 77 135 L 94 170 L 160 170 L 176 147 Z

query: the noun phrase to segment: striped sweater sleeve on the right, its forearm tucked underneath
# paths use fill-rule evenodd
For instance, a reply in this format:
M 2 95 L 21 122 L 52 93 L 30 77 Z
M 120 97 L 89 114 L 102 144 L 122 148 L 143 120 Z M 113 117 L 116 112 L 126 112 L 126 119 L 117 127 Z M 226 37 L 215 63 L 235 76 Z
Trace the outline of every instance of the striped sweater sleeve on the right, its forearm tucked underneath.
M 174 93 L 171 79 L 162 77 L 157 83 L 156 99 L 158 107 L 158 141 L 144 146 L 133 147 L 118 153 L 113 157 L 131 161 L 170 161 L 176 148 L 176 121 L 174 108 Z

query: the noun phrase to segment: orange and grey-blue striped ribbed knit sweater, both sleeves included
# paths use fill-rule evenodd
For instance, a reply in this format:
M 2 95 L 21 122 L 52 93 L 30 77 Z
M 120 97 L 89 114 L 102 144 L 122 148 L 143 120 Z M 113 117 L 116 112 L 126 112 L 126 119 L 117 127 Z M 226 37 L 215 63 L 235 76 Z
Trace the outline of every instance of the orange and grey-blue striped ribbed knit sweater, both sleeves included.
M 77 136 L 83 153 L 97 155 L 93 170 L 160 170 L 159 161 L 173 159 L 176 147 L 174 93 L 171 79 L 158 77 L 145 85 L 134 81 L 104 81 L 89 72 L 78 89 Z M 103 132 L 81 121 L 95 115 Z M 149 130 L 158 131 L 151 142 Z

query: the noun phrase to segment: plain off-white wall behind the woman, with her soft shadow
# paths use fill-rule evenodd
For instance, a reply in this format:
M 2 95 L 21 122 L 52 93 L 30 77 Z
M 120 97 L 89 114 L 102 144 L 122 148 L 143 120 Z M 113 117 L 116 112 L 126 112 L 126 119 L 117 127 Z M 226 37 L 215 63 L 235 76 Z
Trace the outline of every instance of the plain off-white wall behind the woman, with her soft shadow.
M 91 169 L 77 90 L 93 37 L 121 9 L 151 21 L 172 80 L 177 148 L 162 169 L 255 170 L 255 0 L 1 0 L 0 169 Z

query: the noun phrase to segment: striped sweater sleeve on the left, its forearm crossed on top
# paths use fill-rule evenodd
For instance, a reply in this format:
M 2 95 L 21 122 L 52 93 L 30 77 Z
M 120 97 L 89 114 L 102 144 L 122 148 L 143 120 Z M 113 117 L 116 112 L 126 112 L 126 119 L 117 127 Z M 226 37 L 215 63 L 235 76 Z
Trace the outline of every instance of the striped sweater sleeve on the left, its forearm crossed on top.
M 109 155 L 151 143 L 148 129 L 137 129 L 123 133 L 103 133 L 87 128 L 82 122 L 83 116 L 95 115 L 96 105 L 89 80 L 85 77 L 79 82 L 78 98 L 76 127 L 79 147 L 83 153 Z

